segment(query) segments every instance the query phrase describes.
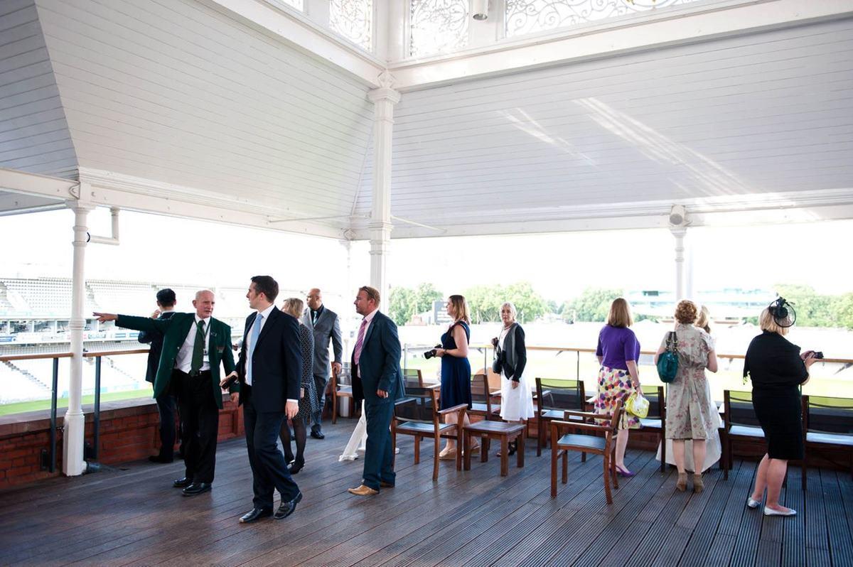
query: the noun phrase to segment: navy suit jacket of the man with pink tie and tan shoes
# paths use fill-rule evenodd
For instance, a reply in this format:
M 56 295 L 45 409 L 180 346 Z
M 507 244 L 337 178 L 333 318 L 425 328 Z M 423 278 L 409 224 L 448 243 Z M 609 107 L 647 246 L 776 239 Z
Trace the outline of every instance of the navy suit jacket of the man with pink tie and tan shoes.
M 352 354 L 351 367 L 355 367 L 355 351 Z M 377 396 L 377 390 L 388 392 L 388 397 Z M 358 376 L 352 380 L 352 395 L 357 401 L 366 399 L 371 403 L 391 403 L 402 399 L 405 393 L 397 325 L 377 311 L 364 335 Z

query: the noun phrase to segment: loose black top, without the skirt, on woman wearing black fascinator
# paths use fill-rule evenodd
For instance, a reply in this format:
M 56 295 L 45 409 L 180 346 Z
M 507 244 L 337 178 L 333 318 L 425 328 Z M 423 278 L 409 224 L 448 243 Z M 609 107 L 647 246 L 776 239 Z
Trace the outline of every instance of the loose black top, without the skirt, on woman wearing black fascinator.
M 779 333 L 764 331 L 746 349 L 744 378 L 749 374 L 752 387 L 763 391 L 795 388 L 809 378 L 799 351 L 796 344 Z

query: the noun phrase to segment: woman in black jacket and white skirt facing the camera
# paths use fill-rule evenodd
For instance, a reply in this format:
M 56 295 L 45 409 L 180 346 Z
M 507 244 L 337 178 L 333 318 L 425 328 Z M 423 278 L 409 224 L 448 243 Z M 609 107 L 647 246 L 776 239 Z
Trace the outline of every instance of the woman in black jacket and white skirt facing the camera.
M 501 418 L 510 423 L 520 423 L 535 415 L 531 382 L 525 376 L 525 332 L 515 321 L 515 313 L 513 304 L 501 305 L 501 334 L 491 339 L 496 348 L 493 369 L 501 373 Z M 509 443 L 509 454 L 514 454 L 516 448 L 517 443 Z

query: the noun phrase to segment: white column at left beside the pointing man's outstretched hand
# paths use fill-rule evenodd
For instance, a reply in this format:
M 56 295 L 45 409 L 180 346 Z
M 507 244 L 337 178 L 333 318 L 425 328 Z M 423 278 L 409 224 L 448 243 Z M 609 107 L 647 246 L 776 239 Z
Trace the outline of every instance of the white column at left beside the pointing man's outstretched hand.
M 81 188 L 82 193 L 82 188 Z M 86 471 L 83 460 L 85 419 L 83 414 L 83 330 L 86 320 L 83 314 L 85 303 L 85 260 L 86 242 L 89 239 L 86 218 L 93 205 L 69 201 L 74 211 L 74 263 L 71 296 L 71 381 L 68 384 L 68 410 L 65 414 L 65 431 L 62 435 L 62 472 L 73 477 Z

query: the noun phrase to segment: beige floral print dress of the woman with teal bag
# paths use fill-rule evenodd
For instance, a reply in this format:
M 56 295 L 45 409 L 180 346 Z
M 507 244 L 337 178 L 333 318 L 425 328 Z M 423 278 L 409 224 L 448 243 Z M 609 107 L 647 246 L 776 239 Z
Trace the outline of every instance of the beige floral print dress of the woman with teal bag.
M 664 335 L 661 346 L 666 345 Z M 705 377 L 708 353 L 714 350 L 714 339 L 693 325 L 679 324 L 678 373 L 667 386 L 666 438 L 711 439 L 719 434 L 720 414 L 711 398 L 711 386 Z

